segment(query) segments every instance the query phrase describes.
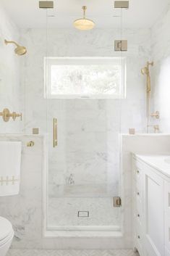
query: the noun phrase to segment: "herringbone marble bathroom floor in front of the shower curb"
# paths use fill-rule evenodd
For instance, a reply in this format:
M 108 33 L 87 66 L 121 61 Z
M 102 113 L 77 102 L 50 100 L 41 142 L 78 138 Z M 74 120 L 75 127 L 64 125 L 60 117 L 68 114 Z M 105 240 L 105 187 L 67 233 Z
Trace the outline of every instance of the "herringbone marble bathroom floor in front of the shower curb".
M 7 256 L 139 256 L 132 249 L 10 249 Z

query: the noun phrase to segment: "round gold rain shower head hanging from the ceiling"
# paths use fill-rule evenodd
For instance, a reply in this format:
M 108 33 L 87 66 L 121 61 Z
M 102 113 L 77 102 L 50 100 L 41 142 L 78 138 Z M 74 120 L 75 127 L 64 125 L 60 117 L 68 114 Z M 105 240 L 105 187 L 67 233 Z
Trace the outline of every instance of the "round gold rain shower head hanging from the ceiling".
M 89 20 L 85 17 L 85 12 L 87 7 L 82 7 L 83 10 L 83 17 L 81 19 L 75 20 L 74 26 L 79 30 L 90 30 L 93 29 L 95 26 L 95 22 L 93 20 Z

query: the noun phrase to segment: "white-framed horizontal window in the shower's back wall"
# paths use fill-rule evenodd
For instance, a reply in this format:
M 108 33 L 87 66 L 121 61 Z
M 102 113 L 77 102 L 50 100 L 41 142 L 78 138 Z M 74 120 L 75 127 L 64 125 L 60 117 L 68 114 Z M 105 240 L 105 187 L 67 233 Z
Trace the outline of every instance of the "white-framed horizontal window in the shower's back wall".
M 121 99 L 125 96 L 124 58 L 45 58 L 48 99 Z

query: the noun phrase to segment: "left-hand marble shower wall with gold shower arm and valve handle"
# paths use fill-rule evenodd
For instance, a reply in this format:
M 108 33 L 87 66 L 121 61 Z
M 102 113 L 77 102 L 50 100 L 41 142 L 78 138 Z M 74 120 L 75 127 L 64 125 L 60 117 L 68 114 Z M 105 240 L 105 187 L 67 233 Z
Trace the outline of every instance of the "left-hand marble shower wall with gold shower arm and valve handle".
M 4 39 L 20 41 L 20 31 L 0 6 L 0 112 L 9 108 L 11 112 L 22 112 L 23 101 L 20 84 L 20 57 L 14 54 L 14 46 L 4 44 Z M 17 118 L 4 123 L 0 117 L 1 133 L 20 133 L 22 123 Z

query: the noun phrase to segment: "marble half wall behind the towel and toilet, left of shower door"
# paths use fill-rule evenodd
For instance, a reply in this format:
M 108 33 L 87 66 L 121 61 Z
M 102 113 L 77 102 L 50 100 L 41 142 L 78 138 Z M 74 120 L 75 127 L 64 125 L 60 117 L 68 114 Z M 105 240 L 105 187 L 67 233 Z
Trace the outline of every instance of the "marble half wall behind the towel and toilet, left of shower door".
M 43 136 L 0 135 L 1 141 L 22 141 L 20 194 L 0 198 L 0 216 L 14 228 L 14 247 L 42 247 Z M 33 147 L 27 147 L 34 141 Z M 37 244 L 37 245 L 36 245 Z

